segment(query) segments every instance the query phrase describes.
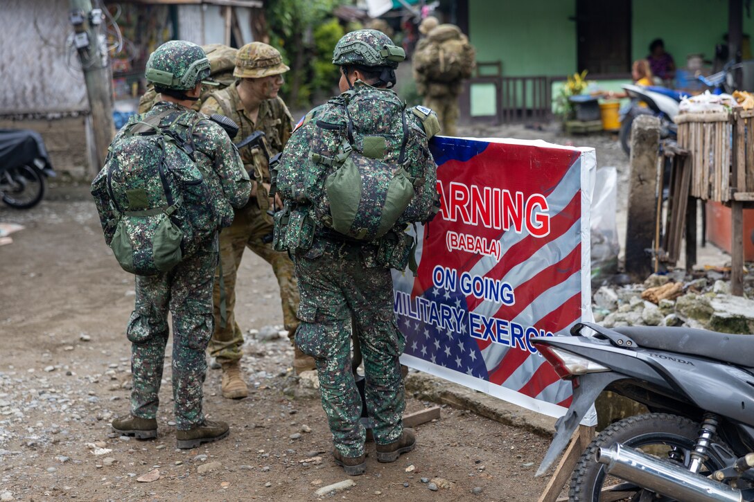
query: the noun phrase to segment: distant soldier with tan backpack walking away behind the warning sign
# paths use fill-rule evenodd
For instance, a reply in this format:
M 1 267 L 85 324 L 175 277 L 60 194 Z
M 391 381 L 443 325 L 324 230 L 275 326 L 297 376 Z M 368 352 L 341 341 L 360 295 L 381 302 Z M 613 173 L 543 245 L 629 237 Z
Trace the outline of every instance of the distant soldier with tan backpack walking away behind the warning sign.
M 464 79 L 477 65 L 474 47 L 458 26 L 438 24 L 436 17 L 425 17 L 419 32 L 425 36 L 413 54 L 416 90 L 424 97 L 424 106 L 437 112 L 442 133 L 455 136 L 455 123 L 461 115 L 458 96 Z

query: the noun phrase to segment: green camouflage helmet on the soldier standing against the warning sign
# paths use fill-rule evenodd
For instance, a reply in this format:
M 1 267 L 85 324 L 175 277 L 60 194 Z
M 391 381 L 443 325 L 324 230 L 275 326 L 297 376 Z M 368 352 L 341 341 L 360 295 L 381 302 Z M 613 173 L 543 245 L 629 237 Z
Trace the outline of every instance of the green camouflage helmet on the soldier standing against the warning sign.
M 397 68 L 406 59 L 403 47 L 397 47 L 383 32 L 357 29 L 346 33 L 333 51 L 333 64 L 338 66 L 387 66 Z

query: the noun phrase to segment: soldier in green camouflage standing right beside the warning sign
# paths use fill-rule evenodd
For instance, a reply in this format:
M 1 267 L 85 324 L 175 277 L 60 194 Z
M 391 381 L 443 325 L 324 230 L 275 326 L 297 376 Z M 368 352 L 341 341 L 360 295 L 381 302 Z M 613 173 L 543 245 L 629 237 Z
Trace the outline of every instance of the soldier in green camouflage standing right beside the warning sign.
M 405 338 L 394 319 L 391 268 L 409 262 L 406 226 L 434 214 L 437 167 L 428 137 L 439 124 L 431 110 L 406 109 L 390 89 L 404 59 L 382 32 L 342 37 L 333 52 L 342 94 L 305 116 L 274 167 L 286 201 L 275 217 L 275 245 L 293 253 L 301 289 L 296 345 L 317 362 L 333 457 L 351 476 L 366 470 L 352 323 L 377 460 L 396 461 L 416 445 L 402 424 Z

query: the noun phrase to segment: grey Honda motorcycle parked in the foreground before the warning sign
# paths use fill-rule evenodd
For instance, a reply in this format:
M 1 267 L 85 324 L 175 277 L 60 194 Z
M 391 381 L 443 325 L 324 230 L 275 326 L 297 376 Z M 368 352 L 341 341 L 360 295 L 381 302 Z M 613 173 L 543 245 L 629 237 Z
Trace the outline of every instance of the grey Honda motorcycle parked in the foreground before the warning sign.
M 754 336 L 593 323 L 571 334 L 531 339 L 573 386 L 538 476 L 611 390 L 650 413 L 596 436 L 572 473 L 569 500 L 754 500 Z

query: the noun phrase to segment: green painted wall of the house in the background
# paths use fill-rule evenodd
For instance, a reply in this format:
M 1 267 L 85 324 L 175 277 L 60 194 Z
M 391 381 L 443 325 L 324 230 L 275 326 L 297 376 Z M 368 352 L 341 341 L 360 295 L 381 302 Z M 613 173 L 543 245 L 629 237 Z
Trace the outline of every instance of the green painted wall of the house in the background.
M 608 2 L 609 0 L 605 0 Z M 478 61 L 501 60 L 503 75 L 564 76 L 576 71 L 575 0 L 469 0 L 469 35 Z M 754 11 L 754 8 L 752 8 Z M 661 37 L 676 66 L 688 54 L 708 60 L 728 30 L 728 0 L 633 0 L 632 59 L 646 57 L 649 43 Z M 754 12 L 752 12 L 754 14 Z M 743 32 L 754 35 L 754 16 L 743 16 Z M 553 83 L 553 96 L 561 84 Z M 618 82 L 599 83 L 613 89 Z M 490 84 L 471 88 L 471 115 L 495 110 Z

